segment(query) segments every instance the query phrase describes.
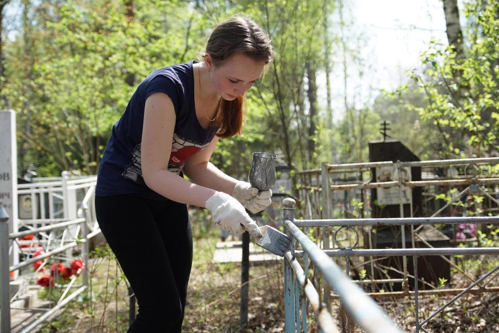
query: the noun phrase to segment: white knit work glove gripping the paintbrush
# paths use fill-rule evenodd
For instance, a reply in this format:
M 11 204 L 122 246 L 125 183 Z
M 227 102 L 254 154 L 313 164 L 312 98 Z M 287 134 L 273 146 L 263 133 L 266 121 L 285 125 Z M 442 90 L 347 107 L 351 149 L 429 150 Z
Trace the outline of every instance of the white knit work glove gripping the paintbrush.
M 212 213 L 213 222 L 219 228 L 233 234 L 242 234 L 246 229 L 253 237 L 261 238 L 258 226 L 251 220 L 243 205 L 227 193 L 215 193 L 206 201 L 205 205 Z

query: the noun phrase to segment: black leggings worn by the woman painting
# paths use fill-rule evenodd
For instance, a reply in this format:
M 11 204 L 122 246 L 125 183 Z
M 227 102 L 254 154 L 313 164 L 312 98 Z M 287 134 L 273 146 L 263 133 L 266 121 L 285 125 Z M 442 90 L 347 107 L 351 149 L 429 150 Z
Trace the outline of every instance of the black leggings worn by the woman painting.
M 96 196 L 95 210 L 139 305 L 128 332 L 181 333 L 192 266 L 187 206 L 124 194 Z

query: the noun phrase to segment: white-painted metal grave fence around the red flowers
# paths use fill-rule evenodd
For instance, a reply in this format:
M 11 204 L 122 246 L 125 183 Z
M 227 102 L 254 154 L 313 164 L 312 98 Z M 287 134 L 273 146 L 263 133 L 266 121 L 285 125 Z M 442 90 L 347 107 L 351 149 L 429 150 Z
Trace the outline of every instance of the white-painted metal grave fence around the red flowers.
M 36 179 L 30 184 L 18 184 L 19 201 L 28 203 L 19 207 L 24 215 L 19 215 L 18 230 L 9 234 L 8 216 L 0 218 L 1 332 L 10 332 L 12 329 L 10 304 L 26 291 L 37 289 L 38 286 L 33 285 L 33 281 L 36 284 L 38 273 L 45 268 L 50 272 L 52 262 L 71 261 L 79 256 L 84 266 L 71 276 L 67 284 L 49 282 L 48 295 L 52 295 L 54 289 L 59 289 L 60 298 L 50 303 L 48 308 L 41 308 L 39 316 L 34 321 L 17 327 L 17 332 L 31 332 L 88 289 L 89 242 L 100 233 L 94 209 L 95 183 L 95 176 L 70 177 L 68 172 L 63 172 L 60 178 Z M 19 204 L 22 205 L 22 202 Z M 31 214 L 30 218 L 26 213 Z M 21 258 L 18 264 L 11 265 L 9 253 L 14 248 L 18 249 Z M 33 256 L 35 252 L 36 255 Z M 42 263 L 36 265 L 36 269 L 31 269 L 31 265 L 39 261 Z M 18 273 L 15 276 L 19 284 L 12 295 L 9 284 L 14 272 Z M 54 269 L 55 280 L 58 275 L 59 271 Z M 77 285 L 75 281 L 80 275 L 82 283 Z

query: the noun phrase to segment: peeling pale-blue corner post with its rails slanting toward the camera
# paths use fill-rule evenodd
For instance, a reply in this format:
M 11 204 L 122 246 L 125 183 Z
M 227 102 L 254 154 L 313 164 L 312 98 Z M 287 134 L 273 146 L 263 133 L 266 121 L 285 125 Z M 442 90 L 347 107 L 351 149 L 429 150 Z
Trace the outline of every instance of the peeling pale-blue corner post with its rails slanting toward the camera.
M 288 235 L 294 237 L 303 248 L 305 258 L 305 270 L 303 271 L 296 260 L 294 248 L 285 254 L 284 258 L 284 312 L 285 332 L 307 332 L 306 304 L 301 302 L 302 322 L 300 323 L 300 300 L 299 287 L 304 288 L 305 295 L 314 311 L 321 332 L 340 332 L 334 323 L 327 307 L 320 302 L 319 294 L 307 279 L 308 256 L 313 260 L 315 267 L 320 271 L 333 290 L 335 290 L 347 312 L 366 331 L 373 333 L 400 333 L 395 324 L 387 318 L 374 301 L 367 296 L 362 289 L 355 285 L 321 249 L 315 245 L 298 227 L 294 221 L 293 199 L 284 199 L 282 209 L 284 214 L 284 227 Z

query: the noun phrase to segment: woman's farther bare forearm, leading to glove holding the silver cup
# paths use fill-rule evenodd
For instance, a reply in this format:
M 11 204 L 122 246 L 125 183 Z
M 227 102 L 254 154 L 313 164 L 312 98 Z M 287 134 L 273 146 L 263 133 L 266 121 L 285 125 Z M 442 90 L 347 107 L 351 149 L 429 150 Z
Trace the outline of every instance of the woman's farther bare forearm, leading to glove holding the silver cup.
M 219 137 L 214 136 L 208 147 L 188 159 L 184 165 L 184 174 L 198 185 L 232 195 L 238 180 L 226 175 L 210 162 L 218 140 Z

